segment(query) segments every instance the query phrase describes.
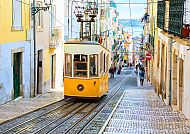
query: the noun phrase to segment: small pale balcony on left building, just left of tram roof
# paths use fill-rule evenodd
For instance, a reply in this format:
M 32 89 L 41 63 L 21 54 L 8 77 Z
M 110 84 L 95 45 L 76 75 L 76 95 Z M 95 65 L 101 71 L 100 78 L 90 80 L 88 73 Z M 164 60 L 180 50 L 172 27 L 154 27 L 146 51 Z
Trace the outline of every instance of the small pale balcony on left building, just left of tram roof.
M 51 34 L 50 48 L 57 48 L 62 43 L 62 29 L 61 27 L 53 27 Z

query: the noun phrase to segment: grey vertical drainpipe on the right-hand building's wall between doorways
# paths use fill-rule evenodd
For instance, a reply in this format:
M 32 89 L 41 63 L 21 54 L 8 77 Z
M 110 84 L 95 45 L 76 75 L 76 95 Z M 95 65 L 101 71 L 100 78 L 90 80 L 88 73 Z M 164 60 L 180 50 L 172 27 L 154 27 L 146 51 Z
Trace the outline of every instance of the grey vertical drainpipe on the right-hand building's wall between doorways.
M 169 105 L 171 106 L 172 105 L 172 45 L 173 45 L 173 37 L 172 35 L 169 35 L 169 43 L 170 43 L 170 50 L 169 50 L 169 53 L 170 53 L 170 68 L 169 68 Z

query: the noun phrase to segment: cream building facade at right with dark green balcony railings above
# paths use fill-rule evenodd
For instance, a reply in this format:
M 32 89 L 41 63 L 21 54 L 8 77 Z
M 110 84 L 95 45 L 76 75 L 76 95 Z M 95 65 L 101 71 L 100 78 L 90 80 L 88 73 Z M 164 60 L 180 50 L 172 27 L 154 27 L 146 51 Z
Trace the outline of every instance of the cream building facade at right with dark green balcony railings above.
M 153 72 L 150 71 L 158 95 L 187 118 L 190 118 L 189 5 L 188 1 L 158 1 L 158 35 L 155 35 L 154 63 L 151 64 Z

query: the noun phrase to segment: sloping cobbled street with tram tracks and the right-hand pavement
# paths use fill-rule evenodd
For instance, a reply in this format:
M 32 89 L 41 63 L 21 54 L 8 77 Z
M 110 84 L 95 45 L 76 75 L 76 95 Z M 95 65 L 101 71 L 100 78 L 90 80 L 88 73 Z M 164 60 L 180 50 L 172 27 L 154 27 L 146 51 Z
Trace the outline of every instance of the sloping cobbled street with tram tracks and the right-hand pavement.
M 0 133 L 190 133 L 190 122 L 185 116 L 166 106 L 153 86 L 147 82 L 139 86 L 137 80 L 132 68 L 124 68 L 121 75 L 109 80 L 109 94 L 99 101 L 59 101 L 2 123 Z M 32 99 L 25 101 L 32 103 Z M 19 101 L 14 105 L 19 105 Z

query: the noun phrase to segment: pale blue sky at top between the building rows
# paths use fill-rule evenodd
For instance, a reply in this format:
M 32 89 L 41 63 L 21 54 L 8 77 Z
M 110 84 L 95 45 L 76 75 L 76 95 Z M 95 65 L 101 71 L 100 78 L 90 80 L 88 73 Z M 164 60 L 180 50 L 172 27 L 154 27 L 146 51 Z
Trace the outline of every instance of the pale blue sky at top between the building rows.
M 129 3 L 129 0 L 115 0 L 116 3 Z M 146 3 L 146 0 L 130 0 L 131 3 Z M 146 4 L 131 4 L 132 19 L 140 19 L 146 8 Z M 129 19 L 130 10 L 129 4 L 117 4 L 117 11 L 120 19 Z

